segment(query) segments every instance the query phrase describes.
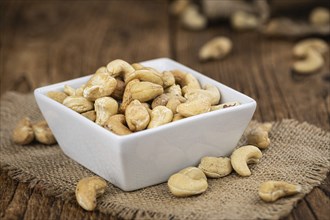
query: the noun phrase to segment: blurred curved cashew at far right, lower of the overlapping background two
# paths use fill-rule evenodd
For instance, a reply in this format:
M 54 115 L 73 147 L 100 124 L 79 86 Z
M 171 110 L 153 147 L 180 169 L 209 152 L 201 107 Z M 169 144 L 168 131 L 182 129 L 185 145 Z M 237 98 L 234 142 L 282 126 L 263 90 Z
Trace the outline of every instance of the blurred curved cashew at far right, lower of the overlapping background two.
M 310 74 L 319 70 L 324 65 L 324 58 L 314 49 L 307 49 L 305 59 L 296 61 L 293 70 L 300 74 Z

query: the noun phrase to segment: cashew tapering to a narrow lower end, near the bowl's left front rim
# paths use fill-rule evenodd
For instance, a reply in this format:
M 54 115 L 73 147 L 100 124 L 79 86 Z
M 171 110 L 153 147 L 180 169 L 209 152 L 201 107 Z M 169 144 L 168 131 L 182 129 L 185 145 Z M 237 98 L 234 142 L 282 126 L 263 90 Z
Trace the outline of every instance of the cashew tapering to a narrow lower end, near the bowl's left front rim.
M 104 123 L 118 112 L 118 102 L 111 97 L 102 97 L 96 99 L 94 103 L 96 112 L 96 124 L 103 126 Z

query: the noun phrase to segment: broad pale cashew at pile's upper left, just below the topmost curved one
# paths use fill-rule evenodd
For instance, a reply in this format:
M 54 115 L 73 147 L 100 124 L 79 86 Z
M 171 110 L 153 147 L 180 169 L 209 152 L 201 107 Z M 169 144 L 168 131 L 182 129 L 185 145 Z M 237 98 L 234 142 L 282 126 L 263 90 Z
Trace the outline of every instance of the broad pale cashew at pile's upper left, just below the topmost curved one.
M 90 101 L 111 95 L 116 89 L 117 81 L 108 73 L 96 73 L 86 83 L 83 95 Z

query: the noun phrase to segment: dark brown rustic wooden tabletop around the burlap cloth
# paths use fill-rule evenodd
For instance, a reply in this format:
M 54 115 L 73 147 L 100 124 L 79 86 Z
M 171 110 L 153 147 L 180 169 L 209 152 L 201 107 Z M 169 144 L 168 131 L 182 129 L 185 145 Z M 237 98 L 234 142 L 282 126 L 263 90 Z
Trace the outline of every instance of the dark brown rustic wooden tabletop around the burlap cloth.
M 1 1 L 1 94 L 84 76 L 116 58 L 170 57 L 256 99 L 256 120 L 294 118 L 330 130 L 329 54 L 319 73 L 297 76 L 290 71 L 294 40 L 237 33 L 225 22 L 190 32 L 167 9 L 166 1 L 151 0 Z M 217 35 L 233 40 L 233 53 L 198 62 L 201 45 Z M 1 219 L 116 218 L 85 212 L 0 171 Z M 329 207 L 330 175 L 284 219 L 329 219 Z

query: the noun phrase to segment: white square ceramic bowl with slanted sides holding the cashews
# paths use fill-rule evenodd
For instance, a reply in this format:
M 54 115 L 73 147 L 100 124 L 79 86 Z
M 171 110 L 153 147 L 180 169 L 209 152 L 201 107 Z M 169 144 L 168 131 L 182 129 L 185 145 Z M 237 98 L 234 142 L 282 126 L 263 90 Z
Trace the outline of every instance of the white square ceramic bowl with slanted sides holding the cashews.
M 204 156 L 230 155 L 256 108 L 252 98 L 173 60 L 141 64 L 160 71 L 189 72 L 202 85 L 217 86 L 221 103 L 238 101 L 241 105 L 118 136 L 45 95 L 62 91 L 65 84 L 77 88 L 91 76 L 36 89 L 38 106 L 64 153 L 125 191 L 165 182 L 173 173 L 198 165 Z

